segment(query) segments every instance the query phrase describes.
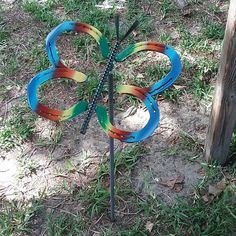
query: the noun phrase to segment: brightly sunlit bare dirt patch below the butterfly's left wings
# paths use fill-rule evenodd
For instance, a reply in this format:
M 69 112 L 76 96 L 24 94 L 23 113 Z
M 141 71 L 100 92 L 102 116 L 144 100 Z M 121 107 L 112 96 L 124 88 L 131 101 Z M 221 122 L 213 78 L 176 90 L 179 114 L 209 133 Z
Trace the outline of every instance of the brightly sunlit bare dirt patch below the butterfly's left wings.
M 3 153 L 0 186 L 5 199 L 29 200 L 60 189 L 64 180 L 82 187 L 94 178 L 99 163 L 105 160 L 108 138 L 95 117 L 86 135 L 81 135 L 81 121 L 65 124 L 60 145 L 51 144 L 46 136 L 32 146 L 25 144 Z M 48 123 L 47 127 L 52 123 L 41 122 Z

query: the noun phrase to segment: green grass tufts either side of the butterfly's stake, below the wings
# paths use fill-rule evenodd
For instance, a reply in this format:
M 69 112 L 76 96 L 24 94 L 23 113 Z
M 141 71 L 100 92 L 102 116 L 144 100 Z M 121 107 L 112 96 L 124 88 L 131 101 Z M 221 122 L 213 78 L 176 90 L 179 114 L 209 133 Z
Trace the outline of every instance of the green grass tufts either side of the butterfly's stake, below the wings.
M 116 186 L 117 199 L 132 196 L 133 191 L 130 188 L 129 181 L 131 170 L 144 153 L 145 150 L 140 145 L 128 148 L 125 152 L 116 153 L 115 172 L 116 178 L 119 180 Z M 121 171 L 124 176 L 119 175 Z M 93 217 L 109 209 L 109 205 L 107 204 L 109 201 L 108 176 L 108 163 L 101 164 L 97 172 L 97 179 L 91 183 L 87 190 L 82 191 L 79 195 L 79 198 L 86 202 L 89 217 Z

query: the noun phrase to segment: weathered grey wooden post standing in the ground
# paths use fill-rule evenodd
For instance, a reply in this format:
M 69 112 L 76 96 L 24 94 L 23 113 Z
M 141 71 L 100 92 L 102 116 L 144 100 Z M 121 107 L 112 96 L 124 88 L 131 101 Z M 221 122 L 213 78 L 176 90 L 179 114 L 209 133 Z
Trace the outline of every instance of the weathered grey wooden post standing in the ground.
M 205 143 L 205 158 L 227 160 L 236 126 L 236 0 L 230 1 L 220 67 Z

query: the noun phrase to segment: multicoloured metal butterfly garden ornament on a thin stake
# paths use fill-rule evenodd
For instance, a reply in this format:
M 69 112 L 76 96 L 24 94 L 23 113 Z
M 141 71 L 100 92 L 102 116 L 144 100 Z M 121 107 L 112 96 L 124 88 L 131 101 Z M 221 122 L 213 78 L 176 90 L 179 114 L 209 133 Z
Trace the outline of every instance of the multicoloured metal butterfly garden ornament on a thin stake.
M 164 45 L 157 42 L 140 42 L 128 46 L 122 51 L 118 51 L 121 42 L 137 27 L 138 22 L 130 27 L 127 33 L 120 37 L 119 33 L 119 17 L 116 16 L 115 19 L 116 25 L 116 43 L 113 46 L 112 50 L 109 50 L 107 39 L 102 35 L 102 33 L 94 28 L 91 25 L 68 21 L 61 23 L 55 29 L 53 29 L 46 38 L 46 51 L 52 68 L 40 72 L 34 78 L 31 79 L 28 85 L 28 102 L 30 108 L 39 114 L 42 117 L 53 121 L 63 121 L 72 119 L 83 112 L 87 112 L 85 120 L 83 121 L 81 127 L 81 133 L 85 134 L 89 126 L 92 114 L 94 111 L 97 114 L 98 121 L 102 129 L 110 137 L 110 161 L 111 161 L 111 205 L 112 205 L 112 219 L 114 220 L 114 140 L 118 139 L 122 142 L 132 143 L 139 142 L 148 138 L 157 128 L 159 123 L 160 112 L 156 101 L 153 96 L 163 92 L 168 89 L 179 77 L 182 69 L 180 57 L 177 52 L 170 46 Z M 72 70 L 65 66 L 60 60 L 57 50 L 56 50 L 56 40 L 59 35 L 65 31 L 78 31 L 91 35 L 98 43 L 101 54 L 106 58 L 107 65 L 101 76 L 101 80 L 96 89 L 93 99 L 89 103 L 88 101 L 79 101 L 77 104 L 73 105 L 67 110 L 61 111 L 53 108 L 49 108 L 46 105 L 42 104 L 38 100 L 37 89 L 41 84 L 45 83 L 48 80 L 56 78 L 67 78 L 72 79 L 76 82 L 82 83 L 87 79 L 87 76 L 75 70 Z M 156 51 L 166 55 L 171 62 L 171 70 L 169 73 L 162 78 L 160 81 L 157 81 L 150 87 L 140 88 L 137 86 L 130 85 L 118 85 L 116 91 L 118 93 L 129 94 L 140 99 L 146 106 L 150 118 L 147 124 L 139 131 L 130 132 L 124 131 L 116 128 L 113 125 L 113 80 L 111 77 L 112 69 L 114 67 L 114 61 L 122 62 L 131 56 L 134 53 L 140 51 Z M 97 102 L 101 96 L 103 86 L 106 81 L 109 81 L 109 106 L 110 114 L 108 116 L 106 108 L 104 106 L 98 105 Z M 80 124 L 78 124 L 80 125 Z

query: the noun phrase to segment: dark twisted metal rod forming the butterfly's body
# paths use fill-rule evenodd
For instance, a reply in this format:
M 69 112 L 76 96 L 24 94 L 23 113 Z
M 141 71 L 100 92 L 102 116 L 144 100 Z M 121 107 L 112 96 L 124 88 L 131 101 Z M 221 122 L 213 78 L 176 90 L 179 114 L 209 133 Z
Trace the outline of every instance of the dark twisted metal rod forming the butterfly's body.
M 95 92 L 95 95 L 93 96 L 93 100 L 92 102 L 89 104 L 89 109 L 88 109 L 88 112 L 87 112 L 87 116 L 84 120 L 84 123 L 82 125 L 82 128 L 80 130 L 80 133 L 81 134 L 85 134 L 87 129 L 88 129 L 88 126 L 89 126 L 89 122 L 92 118 L 92 115 L 93 115 L 93 112 L 95 110 L 95 107 L 96 107 L 96 104 L 97 104 L 97 101 L 98 99 L 100 98 L 101 96 L 101 93 L 102 93 L 102 89 L 103 89 L 103 86 L 105 84 L 105 82 L 107 81 L 112 69 L 113 69 L 113 66 L 114 66 L 114 59 L 115 59 L 115 55 L 116 55 L 116 52 L 118 50 L 120 46 L 120 41 L 116 41 L 110 55 L 109 55 L 109 58 L 108 58 L 108 62 L 107 62 L 107 65 L 106 65 L 106 68 L 105 68 L 105 71 L 102 75 L 102 78 L 98 84 L 98 87 L 96 89 L 96 92 Z

